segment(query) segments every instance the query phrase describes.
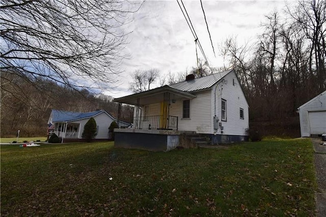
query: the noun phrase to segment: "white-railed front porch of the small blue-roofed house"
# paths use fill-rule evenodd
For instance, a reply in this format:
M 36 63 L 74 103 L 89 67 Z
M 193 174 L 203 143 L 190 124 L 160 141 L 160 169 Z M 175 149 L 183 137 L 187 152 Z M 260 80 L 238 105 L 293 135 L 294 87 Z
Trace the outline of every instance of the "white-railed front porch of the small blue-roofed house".
M 53 133 L 55 133 L 60 138 L 79 138 L 80 123 L 55 123 L 55 131 Z

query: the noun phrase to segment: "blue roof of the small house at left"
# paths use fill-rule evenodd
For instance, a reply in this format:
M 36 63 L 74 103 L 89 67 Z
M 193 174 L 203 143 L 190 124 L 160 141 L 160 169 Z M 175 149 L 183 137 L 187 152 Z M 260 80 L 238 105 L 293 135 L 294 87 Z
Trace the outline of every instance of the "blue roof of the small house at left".
M 85 118 L 91 118 L 103 112 L 105 112 L 108 116 L 112 117 L 112 115 L 107 113 L 105 110 L 83 113 L 83 112 L 62 111 L 62 110 L 52 109 L 52 122 L 68 122 L 68 121 L 80 120 Z M 112 118 L 115 120 L 114 117 Z

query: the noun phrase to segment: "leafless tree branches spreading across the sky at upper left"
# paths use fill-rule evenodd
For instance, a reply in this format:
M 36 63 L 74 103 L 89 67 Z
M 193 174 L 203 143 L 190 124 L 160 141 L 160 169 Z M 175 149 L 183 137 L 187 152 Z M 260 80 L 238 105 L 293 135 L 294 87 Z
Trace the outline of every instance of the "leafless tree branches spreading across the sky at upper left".
M 1 2 L 1 68 L 32 80 L 103 87 L 121 72 L 127 1 Z M 130 6 L 131 7 L 131 6 Z M 85 80 L 87 79 L 87 82 Z

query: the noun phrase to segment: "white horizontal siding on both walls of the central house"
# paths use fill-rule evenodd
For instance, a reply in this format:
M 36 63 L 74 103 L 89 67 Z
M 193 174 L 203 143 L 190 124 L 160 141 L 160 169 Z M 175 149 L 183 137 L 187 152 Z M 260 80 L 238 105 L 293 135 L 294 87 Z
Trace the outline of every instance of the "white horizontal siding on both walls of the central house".
M 224 127 L 223 134 L 247 135 L 246 129 L 249 128 L 249 106 L 233 71 L 211 89 L 193 92 L 193 94 L 197 97 L 190 100 L 190 118 L 182 118 L 182 101 L 186 99 L 170 103 L 169 115 L 178 116 L 178 130 L 196 131 L 203 134 L 221 134 L 220 129 L 217 132 L 213 129 L 213 116 L 216 112 L 216 116 L 221 121 L 221 98 L 223 98 L 227 101 L 227 121 L 222 121 L 222 126 Z M 243 119 L 240 118 L 240 108 L 243 109 Z M 159 114 L 160 103 L 149 105 L 150 116 Z

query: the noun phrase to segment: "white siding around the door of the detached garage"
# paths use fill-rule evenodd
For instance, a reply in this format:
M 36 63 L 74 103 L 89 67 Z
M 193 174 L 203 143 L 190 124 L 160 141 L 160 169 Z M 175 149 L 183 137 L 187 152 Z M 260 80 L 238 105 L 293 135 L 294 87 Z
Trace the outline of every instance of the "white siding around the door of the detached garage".
M 308 114 L 314 111 L 326 111 L 326 91 L 299 107 L 301 137 L 310 137 L 310 125 L 314 123 L 310 122 Z

